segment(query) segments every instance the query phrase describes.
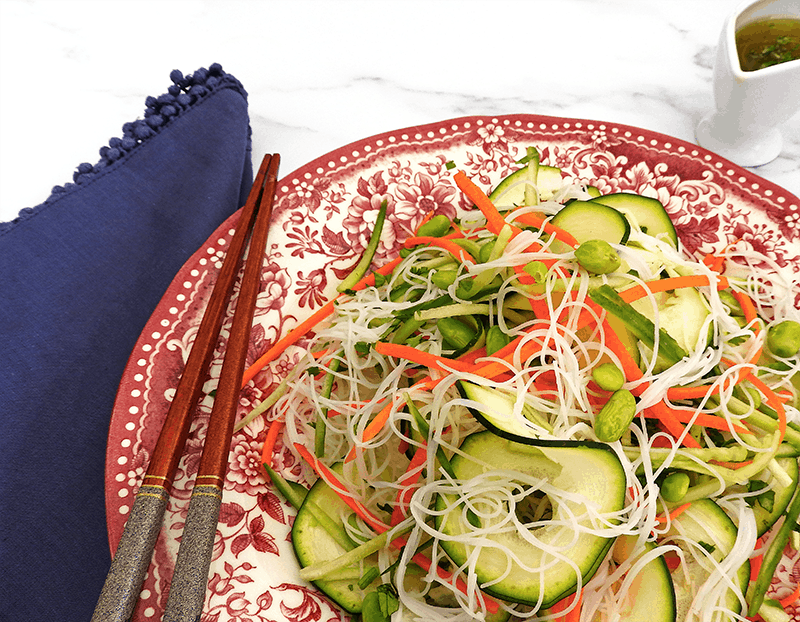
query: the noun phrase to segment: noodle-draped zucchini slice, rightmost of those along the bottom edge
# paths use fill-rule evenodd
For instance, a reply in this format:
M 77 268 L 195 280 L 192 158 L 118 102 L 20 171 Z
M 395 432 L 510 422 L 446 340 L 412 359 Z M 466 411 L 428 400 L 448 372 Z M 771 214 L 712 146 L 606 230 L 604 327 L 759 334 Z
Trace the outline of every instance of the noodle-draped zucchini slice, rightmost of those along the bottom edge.
M 709 551 L 710 556 L 717 562 L 724 559 L 733 550 L 736 543 L 737 529 L 734 522 L 725 511 L 711 499 L 701 499 L 693 502 L 672 525 L 668 536 L 681 535 L 697 543 Z M 668 538 L 669 540 L 669 538 Z M 684 560 L 672 573 L 672 582 L 675 586 L 676 602 L 678 606 L 678 619 L 687 619 L 687 613 L 696 595 L 696 588 L 703 585 L 710 576 L 710 570 L 696 561 L 689 546 L 682 540 L 676 539 L 674 544 L 684 550 Z M 750 581 L 750 562 L 746 561 L 737 571 L 736 578 L 739 589 L 744 594 Z M 716 611 L 711 617 L 713 622 L 740 619 L 733 614 L 741 612 L 741 603 L 733 590 L 728 590 L 718 603 L 729 615 Z

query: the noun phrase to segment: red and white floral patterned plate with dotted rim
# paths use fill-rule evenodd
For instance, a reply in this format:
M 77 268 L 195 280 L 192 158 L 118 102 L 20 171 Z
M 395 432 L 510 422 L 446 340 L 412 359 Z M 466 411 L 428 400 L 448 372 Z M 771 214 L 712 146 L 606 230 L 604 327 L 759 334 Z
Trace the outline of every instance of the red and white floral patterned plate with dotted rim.
M 249 362 L 334 292 L 366 245 L 378 206 L 388 226 L 378 259 L 389 256 L 432 208 L 455 213 L 460 193 L 449 160 L 485 188 L 536 146 L 558 166 L 604 194 L 632 190 L 658 198 L 689 252 L 746 240 L 800 272 L 800 200 L 695 145 L 646 130 L 534 115 L 468 117 L 407 128 L 347 145 L 308 163 L 279 184 L 264 262 Z M 106 460 L 109 540 L 119 540 L 238 214 L 175 277 L 149 320 L 123 375 Z M 224 351 L 223 332 L 219 351 Z M 219 352 L 217 353 L 219 355 Z M 291 366 L 291 353 L 242 393 L 244 414 Z M 207 389 L 219 374 L 215 359 Z M 134 619 L 160 619 L 201 452 L 211 400 L 197 410 L 142 598 Z M 225 483 L 203 620 L 316 622 L 344 615 L 297 576 L 289 541 L 293 512 L 267 485 L 260 451 L 269 421 L 236 434 Z M 277 466 L 300 474 L 279 446 Z M 797 584 L 796 553 L 776 581 Z M 779 594 L 783 596 L 783 594 Z M 794 611 L 800 620 L 800 610 Z

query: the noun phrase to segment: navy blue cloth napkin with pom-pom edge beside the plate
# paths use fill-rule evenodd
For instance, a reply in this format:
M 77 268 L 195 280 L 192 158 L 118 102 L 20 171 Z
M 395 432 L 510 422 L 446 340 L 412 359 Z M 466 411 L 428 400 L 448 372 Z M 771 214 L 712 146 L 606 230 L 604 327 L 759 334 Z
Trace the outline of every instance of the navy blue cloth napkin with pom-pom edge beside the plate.
M 252 184 L 247 93 L 170 75 L 73 183 L 0 224 L 0 617 L 90 619 L 114 398 L 150 314 Z M 8 616 L 5 618 L 5 616 Z

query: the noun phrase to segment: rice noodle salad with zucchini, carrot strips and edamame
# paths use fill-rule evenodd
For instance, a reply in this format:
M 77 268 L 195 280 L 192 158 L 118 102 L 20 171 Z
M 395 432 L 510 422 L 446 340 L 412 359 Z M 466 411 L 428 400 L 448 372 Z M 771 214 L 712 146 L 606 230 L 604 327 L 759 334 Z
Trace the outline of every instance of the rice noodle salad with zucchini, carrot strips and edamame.
M 791 619 L 798 273 L 690 256 L 657 201 L 535 149 L 489 195 L 451 173 L 474 207 L 370 270 L 382 212 L 278 344 L 299 361 L 259 412 L 301 577 L 367 622 Z

